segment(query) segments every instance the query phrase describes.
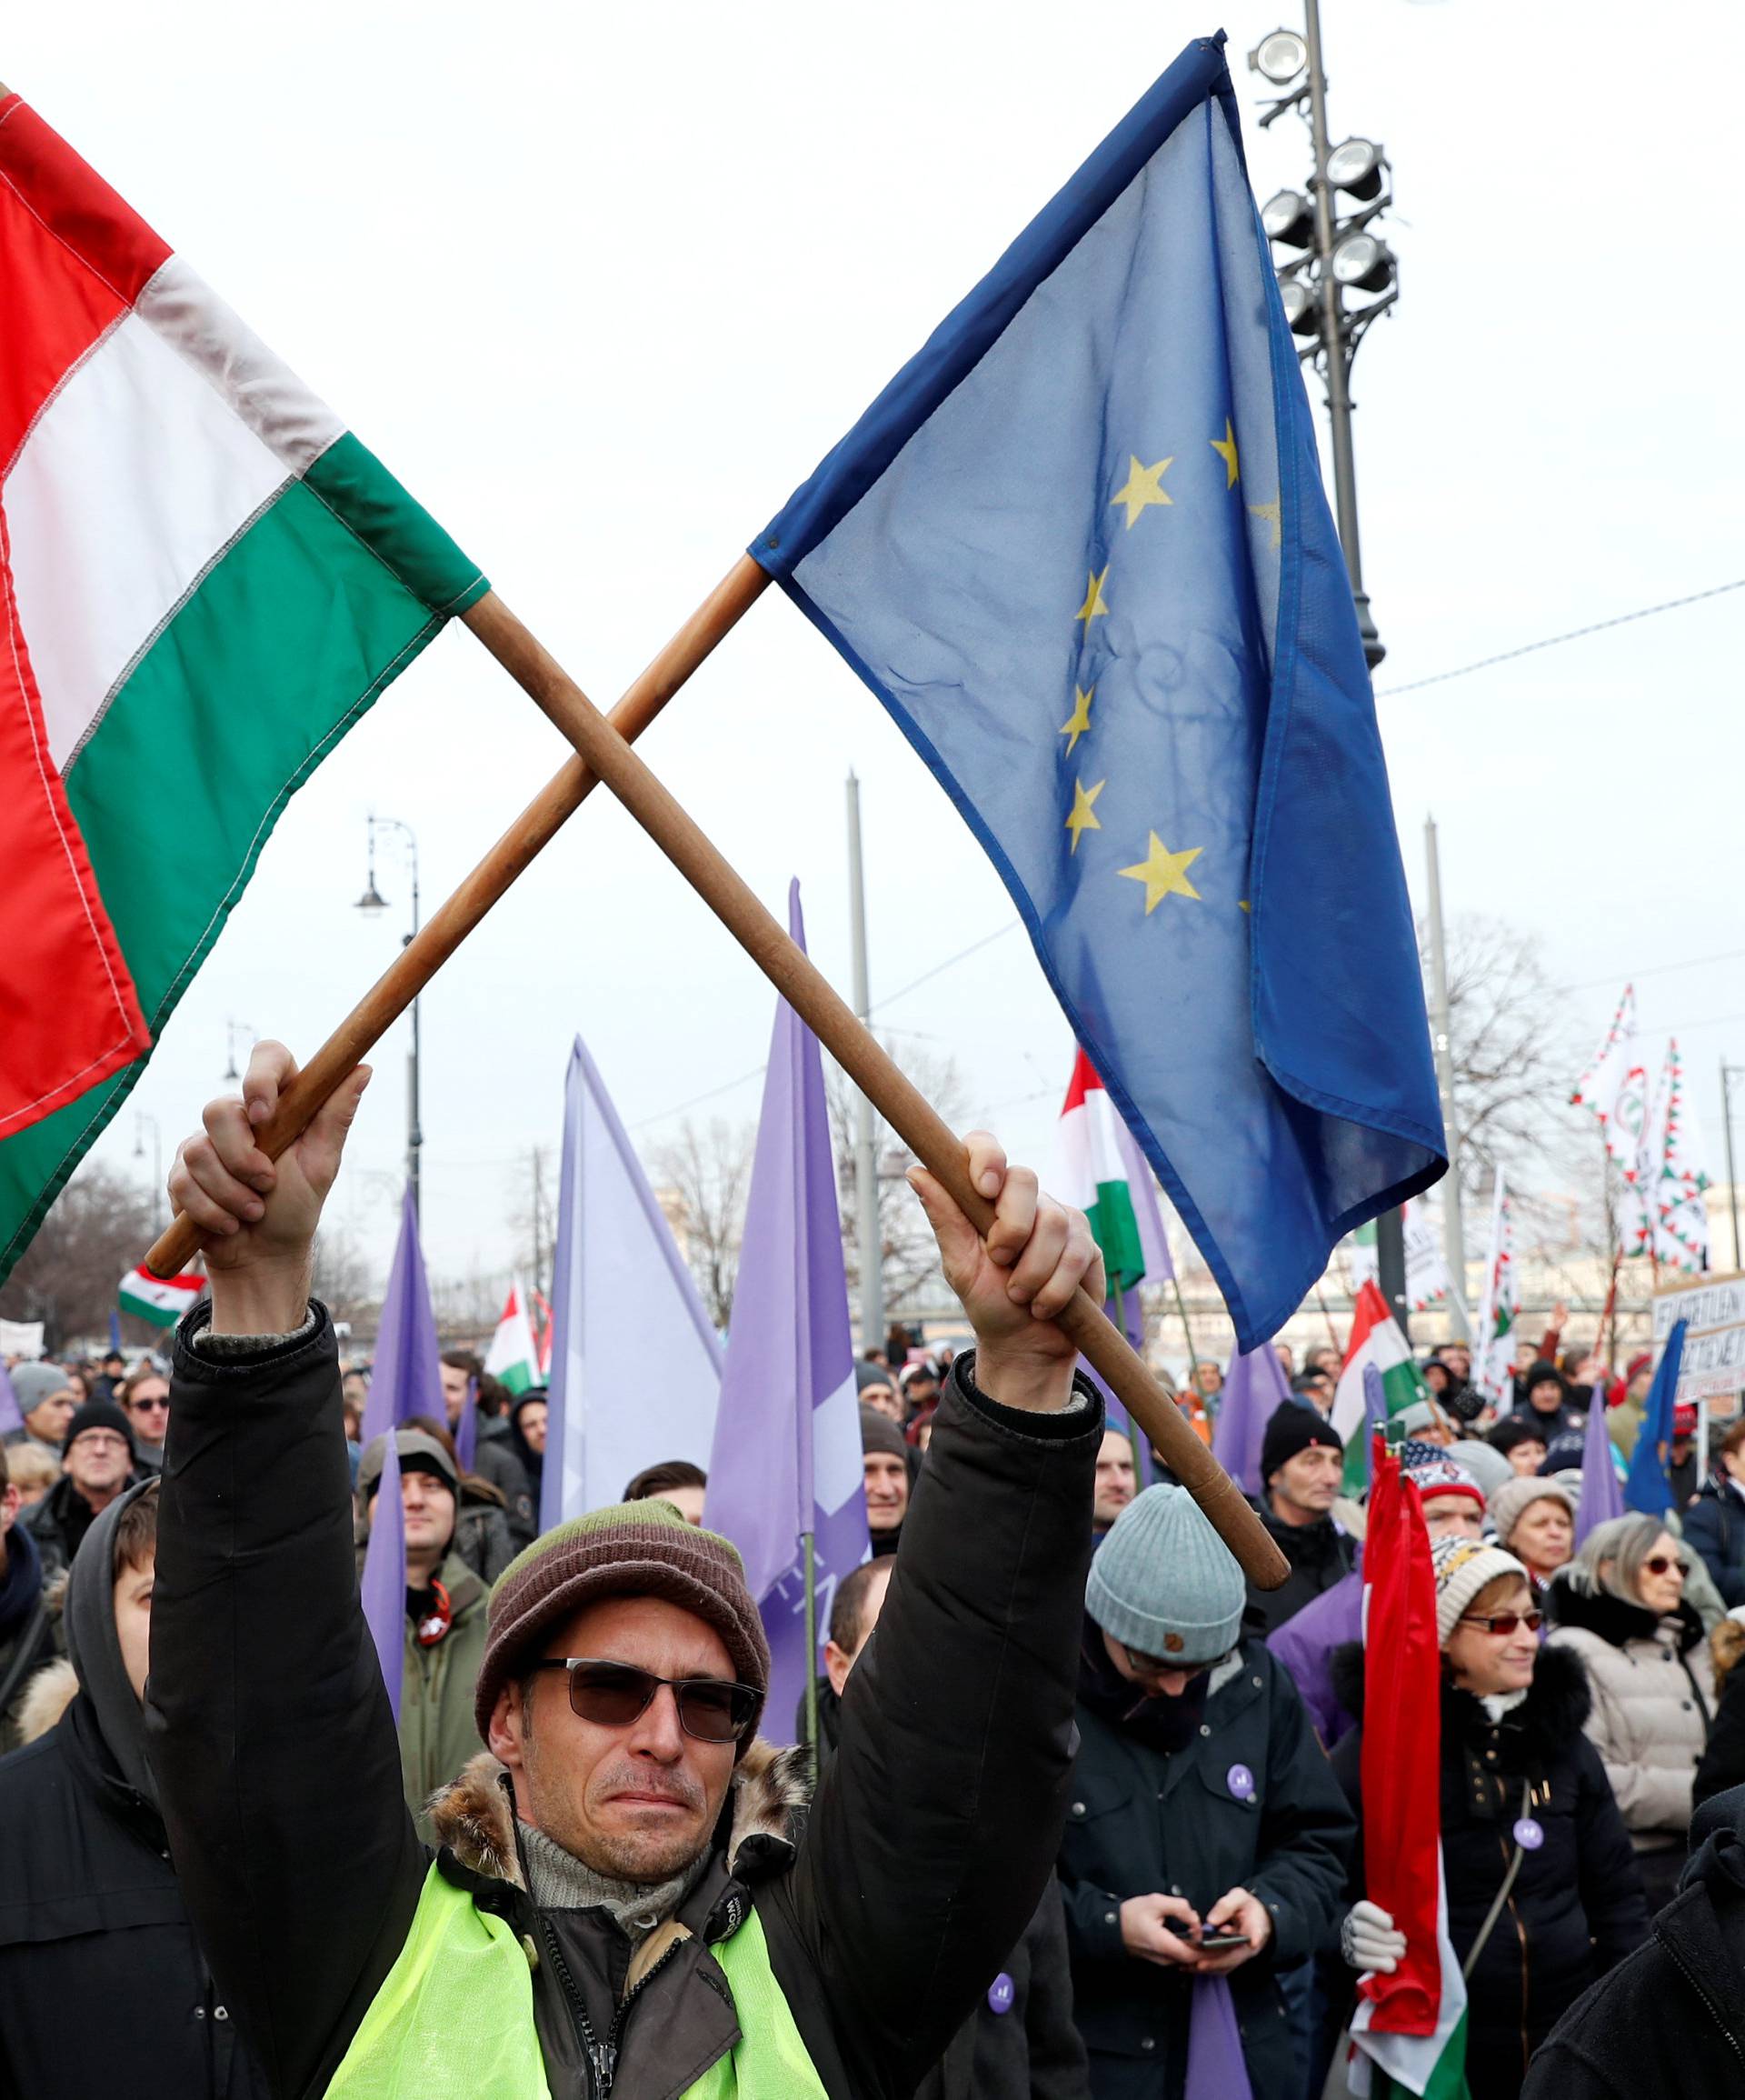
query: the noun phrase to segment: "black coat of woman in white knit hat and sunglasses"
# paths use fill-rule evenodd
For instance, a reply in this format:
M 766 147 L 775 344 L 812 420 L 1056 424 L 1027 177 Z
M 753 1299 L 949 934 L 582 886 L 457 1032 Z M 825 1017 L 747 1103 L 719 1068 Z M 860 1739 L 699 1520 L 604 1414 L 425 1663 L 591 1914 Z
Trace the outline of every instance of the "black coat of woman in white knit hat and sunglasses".
M 1363 1651 L 1342 1648 L 1336 1684 L 1352 1712 L 1363 1699 Z M 1504 1913 L 1468 1982 L 1466 2081 L 1472 2100 L 1510 2100 L 1527 2060 L 1588 1984 L 1640 1947 L 1648 1909 L 1630 1831 L 1606 1785 L 1600 1754 L 1581 1732 L 1590 1707 L 1581 1661 L 1541 1648 L 1527 1699 L 1491 1722 L 1485 1707 L 1443 1682 L 1443 1875 L 1449 1940 L 1466 1964 L 1514 1856 L 1514 1825 L 1533 1787 L 1543 1831 L 1522 1852 Z M 1363 1812 L 1363 1728 L 1342 1737 L 1333 1770 Z M 1350 1900 L 1363 1888 L 1363 1854 Z

